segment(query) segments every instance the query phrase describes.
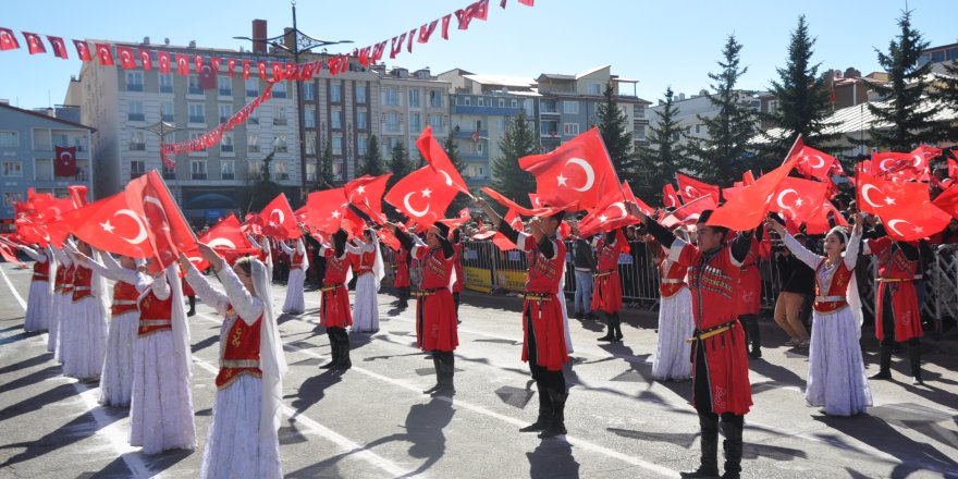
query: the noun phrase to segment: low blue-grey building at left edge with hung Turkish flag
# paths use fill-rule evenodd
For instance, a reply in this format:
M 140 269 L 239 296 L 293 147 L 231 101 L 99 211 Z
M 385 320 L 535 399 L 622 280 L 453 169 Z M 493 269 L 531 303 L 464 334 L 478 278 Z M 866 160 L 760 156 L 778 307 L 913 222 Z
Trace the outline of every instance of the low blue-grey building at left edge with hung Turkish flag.
M 97 193 L 94 180 L 99 170 L 90 168 L 94 128 L 66 120 L 77 118 L 75 107 L 38 112 L 0 102 L 0 230 L 12 231 L 13 204 L 25 200 L 29 188 L 61 198 L 70 196 L 67 187 L 73 185 L 86 186 L 90 198 Z M 54 174 L 58 146 L 76 148 L 75 176 Z

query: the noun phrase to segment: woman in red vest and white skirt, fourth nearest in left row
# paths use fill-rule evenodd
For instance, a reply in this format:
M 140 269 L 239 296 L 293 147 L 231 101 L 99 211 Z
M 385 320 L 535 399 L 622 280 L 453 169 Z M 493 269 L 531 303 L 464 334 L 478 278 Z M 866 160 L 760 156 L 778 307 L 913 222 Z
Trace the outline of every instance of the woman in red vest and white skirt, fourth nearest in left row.
M 73 309 L 60 320 L 60 357 L 63 373 L 81 380 L 95 380 L 103 370 L 107 354 L 107 282 L 103 277 L 77 261 L 77 253 L 93 251 L 79 242 L 78 250 L 67 246 L 73 261 Z

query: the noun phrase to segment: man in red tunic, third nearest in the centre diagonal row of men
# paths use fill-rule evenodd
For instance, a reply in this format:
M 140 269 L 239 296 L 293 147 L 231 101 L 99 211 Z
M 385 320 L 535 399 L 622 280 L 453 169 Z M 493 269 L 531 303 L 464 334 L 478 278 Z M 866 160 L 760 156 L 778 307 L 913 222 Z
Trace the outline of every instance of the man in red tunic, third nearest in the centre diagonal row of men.
M 435 385 L 422 391 L 433 396 L 452 396 L 456 393 L 455 355 L 459 344 L 456 331 L 456 307 L 452 295 L 453 261 L 455 250 L 447 240 L 449 226 L 435 223 L 426 234 L 426 243 L 417 236 L 386 223 L 403 248 L 422 265 L 419 288 L 414 293 L 416 302 L 416 344 L 432 353 L 435 368 Z

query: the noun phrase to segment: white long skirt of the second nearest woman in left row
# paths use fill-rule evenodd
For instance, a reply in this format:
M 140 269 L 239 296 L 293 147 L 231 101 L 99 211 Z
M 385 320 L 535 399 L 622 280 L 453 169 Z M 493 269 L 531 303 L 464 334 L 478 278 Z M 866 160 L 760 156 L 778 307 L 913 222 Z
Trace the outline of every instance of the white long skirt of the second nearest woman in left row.
M 174 353 L 172 331 L 134 343 L 130 444 L 143 446 L 145 454 L 196 449 L 189 378 Z

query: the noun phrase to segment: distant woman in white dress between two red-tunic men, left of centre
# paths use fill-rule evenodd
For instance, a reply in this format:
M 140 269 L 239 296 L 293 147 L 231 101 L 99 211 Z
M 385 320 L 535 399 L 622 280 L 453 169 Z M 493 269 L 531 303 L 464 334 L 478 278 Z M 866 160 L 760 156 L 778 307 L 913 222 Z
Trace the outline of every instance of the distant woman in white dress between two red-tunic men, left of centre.
M 372 230 L 363 232 L 363 240 L 346 243 L 346 250 L 359 258 L 356 298 L 353 302 L 353 332 L 379 331 L 379 283 L 384 275 L 379 237 Z

